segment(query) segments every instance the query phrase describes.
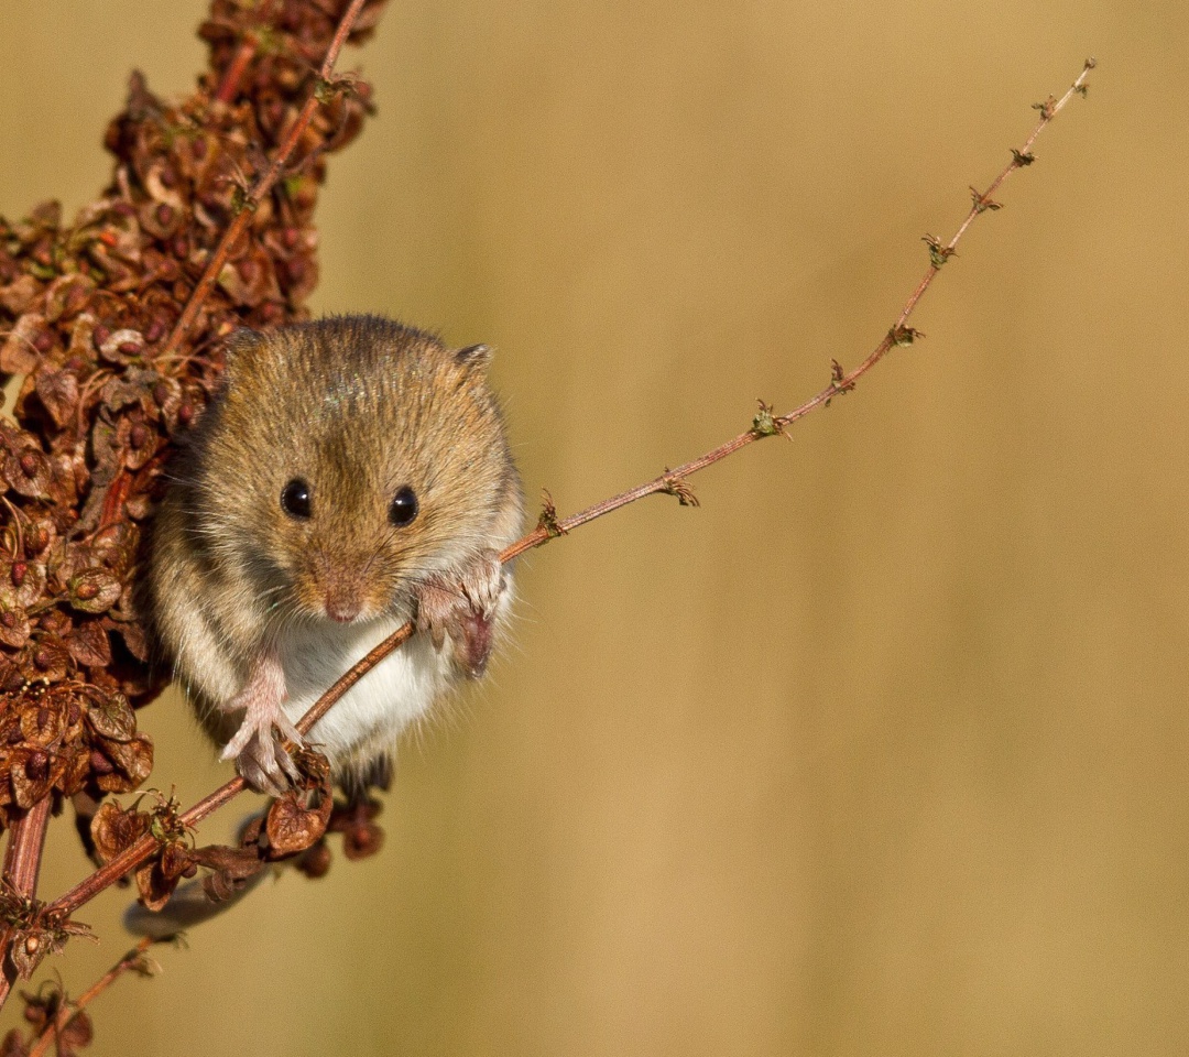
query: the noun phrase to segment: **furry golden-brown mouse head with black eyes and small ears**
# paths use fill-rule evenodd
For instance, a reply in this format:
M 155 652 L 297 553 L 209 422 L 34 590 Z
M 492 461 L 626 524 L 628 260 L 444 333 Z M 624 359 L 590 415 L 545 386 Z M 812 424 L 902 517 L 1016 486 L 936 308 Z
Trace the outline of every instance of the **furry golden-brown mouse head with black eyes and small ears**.
M 408 616 L 518 495 L 489 361 L 366 316 L 238 333 L 195 442 L 196 542 L 265 618 Z

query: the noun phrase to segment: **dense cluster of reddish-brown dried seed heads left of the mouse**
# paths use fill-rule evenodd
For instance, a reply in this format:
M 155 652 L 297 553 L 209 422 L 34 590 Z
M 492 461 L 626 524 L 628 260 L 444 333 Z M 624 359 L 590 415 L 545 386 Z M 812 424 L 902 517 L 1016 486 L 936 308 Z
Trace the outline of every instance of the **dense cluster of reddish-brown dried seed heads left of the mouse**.
M 0 829 L 51 791 L 97 799 L 151 772 L 133 706 L 162 673 L 149 665 L 137 571 L 163 465 L 214 389 L 221 339 L 303 317 L 317 279 L 325 155 L 359 132 L 367 88 L 317 81 L 346 0 L 266 6 L 215 0 L 200 30 L 210 71 L 188 99 L 162 101 L 133 75 L 106 137 L 112 185 L 71 224 L 54 202 L 0 220 L 0 371 L 25 376 L 15 424 L 0 422 Z M 312 93 L 322 106 L 296 161 L 168 350 Z

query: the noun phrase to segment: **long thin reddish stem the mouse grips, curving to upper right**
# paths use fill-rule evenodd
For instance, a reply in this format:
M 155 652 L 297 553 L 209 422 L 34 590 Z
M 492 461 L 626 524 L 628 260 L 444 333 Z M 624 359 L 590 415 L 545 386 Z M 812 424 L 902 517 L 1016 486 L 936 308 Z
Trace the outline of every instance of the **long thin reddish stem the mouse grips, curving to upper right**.
M 353 10 L 354 7 L 352 11 Z M 350 13 L 351 12 L 348 12 L 348 14 Z M 522 554 L 534 547 L 540 547 L 555 536 L 565 535 L 571 530 L 586 524 L 587 522 L 594 521 L 597 517 L 610 514 L 612 510 L 618 510 L 621 507 L 627 507 L 629 503 L 642 499 L 644 496 L 663 492 L 666 495 L 675 495 L 681 502 L 685 503 L 694 502 L 692 499 L 692 495 L 688 492 L 687 485 L 684 483 L 685 478 L 690 474 L 697 473 L 699 470 L 704 470 L 715 463 L 722 461 L 728 455 L 734 454 L 740 448 L 747 447 L 754 441 L 784 433 L 788 426 L 800 419 L 804 419 L 814 408 L 828 404 L 833 397 L 854 389 L 855 383 L 872 367 L 874 367 L 875 364 L 877 364 L 893 346 L 908 344 L 914 336 L 919 336 L 914 331 L 911 331 L 906 326 L 913 309 L 916 309 L 918 302 L 937 277 L 942 265 L 954 254 L 957 244 L 974 222 L 975 218 L 988 209 L 999 208 L 998 203 L 993 202 L 990 199 L 992 193 L 995 191 L 1015 169 L 1031 164 L 1032 157 L 1028 155 L 1028 150 L 1036 141 L 1036 138 L 1064 108 L 1075 94 L 1084 93 L 1086 77 L 1092 69 L 1094 69 L 1094 61 L 1087 59 L 1081 75 L 1059 100 L 1050 99 L 1039 106 L 1040 120 L 1032 130 L 1032 134 L 1025 140 L 1024 149 L 1012 152 L 1012 162 L 995 177 L 990 187 L 984 193 L 980 194 L 975 191 L 974 203 L 970 207 L 970 212 L 962 222 L 961 227 L 958 227 L 957 232 L 954 234 L 954 238 L 951 238 L 944 246 L 933 239 L 927 240 L 931 248 L 931 263 L 924 278 L 921 278 L 921 281 L 917 284 L 917 288 L 905 302 L 904 308 L 897 317 L 892 329 L 888 331 L 883 340 L 880 341 L 880 344 L 868 354 L 867 359 L 864 359 L 857 367 L 850 372 L 844 372 L 837 364 L 835 364 L 833 376 L 830 384 L 820 392 L 805 401 L 805 403 L 785 415 L 774 416 L 770 414 L 768 408 L 761 404 L 761 413 L 756 416 L 753 427 L 749 430 L 741 433 L 738 436 L 726 441 L 713 451 L 706 452 L 704 455 L 678 466 L 675 470 L 667 470 L 660 477 L 654 478 L 650 482 L 637 485 L 634 489 L 621 492 L 618 496 L 604 499 L 600 503 L 596 503 L 593 507 L 589 507 L 585 510 L 581 510 L 578 514 L 572 514 L 565 518 L 558 518 L 553 514 L 552 507 L 547 508 L 546 512 L 542 514 L 541 524 L 536 529 L 499 552 L 501 561 L 510 561 L 517 554 Z M 358 661 L 334 684 L 334 686 L 322 694 L 322 697 L 309 709 L 309 711 L 306 712 L 304 716 L 302 716 L 301 721 L 297 723 L 297 729 L 302 734 L 308 734 L 314 724 L 331 710 L 342 694 L 345 694 L 356 682 L 367 674 L 367 672 L 375 668 L 376 665 L 384 660 L 384 658 L 404 643 L 413 635 L 413 631 L 414 628 L 411 623 L 404 624 L 365 658 Z M 199 823 L 201 819 L 210 814 L 216 807 L 222 806 L 233 797 L 243 792 L 245 784 L 243 779 L 233 779 L 227 782 L 227 785 L 220 787 L 214 793 L 194 805 L 194 807 L 182 816 L 182 820 L 187 825 Z M 70 889 L 70 892 L 65 893 L 61 899 L 56 900 L 51 908 L 64 913 L 73 913 L 125 873 L 134 869 L 149 860 L 156 851 L 156 848 L 157 843 L 151 837 L 143 837 L 121 855 L 113 858 L 102 869 L 97 870 L 75 888 Z

